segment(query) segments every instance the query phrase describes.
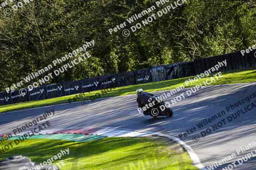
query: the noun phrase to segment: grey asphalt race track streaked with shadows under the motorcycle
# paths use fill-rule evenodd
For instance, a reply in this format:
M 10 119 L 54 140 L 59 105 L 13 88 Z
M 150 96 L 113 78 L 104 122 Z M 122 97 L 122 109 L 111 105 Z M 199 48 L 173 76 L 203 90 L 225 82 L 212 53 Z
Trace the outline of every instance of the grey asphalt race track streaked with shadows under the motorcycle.
M 171 99 L 188 89 L 183 89 L 165 101 Z M 107 99 L 99 99 L 89 103 L 87 106 L 81 105 L 81 102 L 62 104 L 49 107 L 40 107 L 23 111 L 0 114 L 1 131 L 12 131 L 17 127 L 24 126 L 33 118 L 45 114 L 46 110 L 55 110 L 55 115 L 47 118 L 51 122 L 51 128 L 81 128 L 81 127 L 113 127 L 133 129 L 139 132 L 159 132 L 174 137 L 186 132 L 190 128 L 196 127 L 196 132 L 188 137 L 181 138 L 188 144 L 199 157 L 201 163 L 207 167 L 214 162 L 221 161 L 225 157 L 235 153 L 240 147 L 256 141 L 256 108 L 228 122 L 227 117 L 236 111 L 246 107 L 251 102 L 256 102 L 254 98 L 249 103 L 236 107 L 226 115 L 218 118 L 214 122 L 199 129 L 196 124 L 205 118 L 211 118 L 226 107 L 234 105 L 239 100 L 256 92 L 256 83 L 209 86 L 200 89 L 180 102 L 172 105 L 174 115 L 172 118 L 144 116 L 137 111 L 136 95 L 120 96 Z M 155 92 L 155 95 L 161 95 L 163 92 Z M 227 112 L 227 111 L 226 111 Z M 210 128 L 217 122 L 226 119 L 226 125 L 222 124 L 219 129 L 205 137 L 200 135 L 202 130 Z M 220 125 L 220 124 L 219 124 Z M 199 135 L 200 139 L 198 140 Z M 196 140 L 195 140 L 195 139 Z M 237 155 L 222 166 L 214 168 L 216 170 L 228 166 L 236 159 L 242 158 L 247 153 L 256 150 L 256 146 L 246 152 Z M 254 152 L 255 153 L 255 152 Z M 241 166 L 234 169 L 252 170 L 255 169 L 255 158 L 249 159 Z M 208 169 L 208 168 L 206 168 Z

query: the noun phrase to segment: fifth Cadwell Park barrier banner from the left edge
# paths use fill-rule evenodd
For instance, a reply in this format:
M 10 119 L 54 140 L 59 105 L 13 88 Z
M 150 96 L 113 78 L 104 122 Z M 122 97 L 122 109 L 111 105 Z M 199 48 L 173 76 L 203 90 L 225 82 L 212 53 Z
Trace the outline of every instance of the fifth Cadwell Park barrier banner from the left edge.
M 78 81 L 66 81 L 62 83 L 64 96 L 81 93 L 81 84 Z

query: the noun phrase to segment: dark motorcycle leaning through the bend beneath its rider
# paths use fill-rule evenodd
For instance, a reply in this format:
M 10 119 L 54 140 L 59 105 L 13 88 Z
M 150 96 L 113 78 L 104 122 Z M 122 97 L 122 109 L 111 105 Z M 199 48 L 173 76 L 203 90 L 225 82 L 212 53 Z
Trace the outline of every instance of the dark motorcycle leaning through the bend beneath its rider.
M 157 97 L 150 97 L 146 104 L 149 106 L 147 113 L 153 118 L 156 118 L 157 116 L 172 117 L 173 115 L 172 109 L 170 107 L 165 107 L 165 102 L 163 100 L 160 101 Z

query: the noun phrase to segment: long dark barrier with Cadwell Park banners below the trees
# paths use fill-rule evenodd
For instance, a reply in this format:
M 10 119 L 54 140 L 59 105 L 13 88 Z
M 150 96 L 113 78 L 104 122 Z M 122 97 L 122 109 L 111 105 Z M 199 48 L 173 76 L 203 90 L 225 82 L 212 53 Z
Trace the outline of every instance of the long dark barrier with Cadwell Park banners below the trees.
M 87 78 L 79 81 L 68 81 L 57 84 L 43 85 L 27 90 L 25 95 L 19 91 L 0 92 L 0 105 L 8 105 L 32 100 L 43 100 L 67 96 L 94 90 L 136 85 L 148 82 L 158 82 L 175 78 L 195 76 L 208 70 L 218 62 L 227 60 L 227 66 L 221 67 L 221 72 L 246 70 L 256 68 L 254 51 L 242 55 L 240 52 L 225 55 L 195 59 L 193 62 L 174 63 L 166 66 L 141 69 L 133 72 L 121 72 L 113 75 Z

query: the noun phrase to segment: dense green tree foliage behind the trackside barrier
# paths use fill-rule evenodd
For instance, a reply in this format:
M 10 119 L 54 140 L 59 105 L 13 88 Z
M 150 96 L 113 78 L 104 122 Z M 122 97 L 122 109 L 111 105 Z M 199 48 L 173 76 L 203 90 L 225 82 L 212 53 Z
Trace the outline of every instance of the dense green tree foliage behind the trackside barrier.
M 193 61 L 256 44 L 256 3 L 251 0 L 187 1 L 134 33 L 131 26 L 174 1 L 160 7 L 151 0 L 22 1 L 22 8 L 6 16 L 4 9 L 12 9 L 18 2 L 8 0 L 8 5 L 0 9 L 2 91 L 91 40 L 96 43 L 88 49 L 92 57 L 48 83 Z M 156 10 L 127 23 L 127 18 L 152 5 Z M 110 35 L 108 29 L 124 21 L 130 36 L 124 37 L 123 29 Z

